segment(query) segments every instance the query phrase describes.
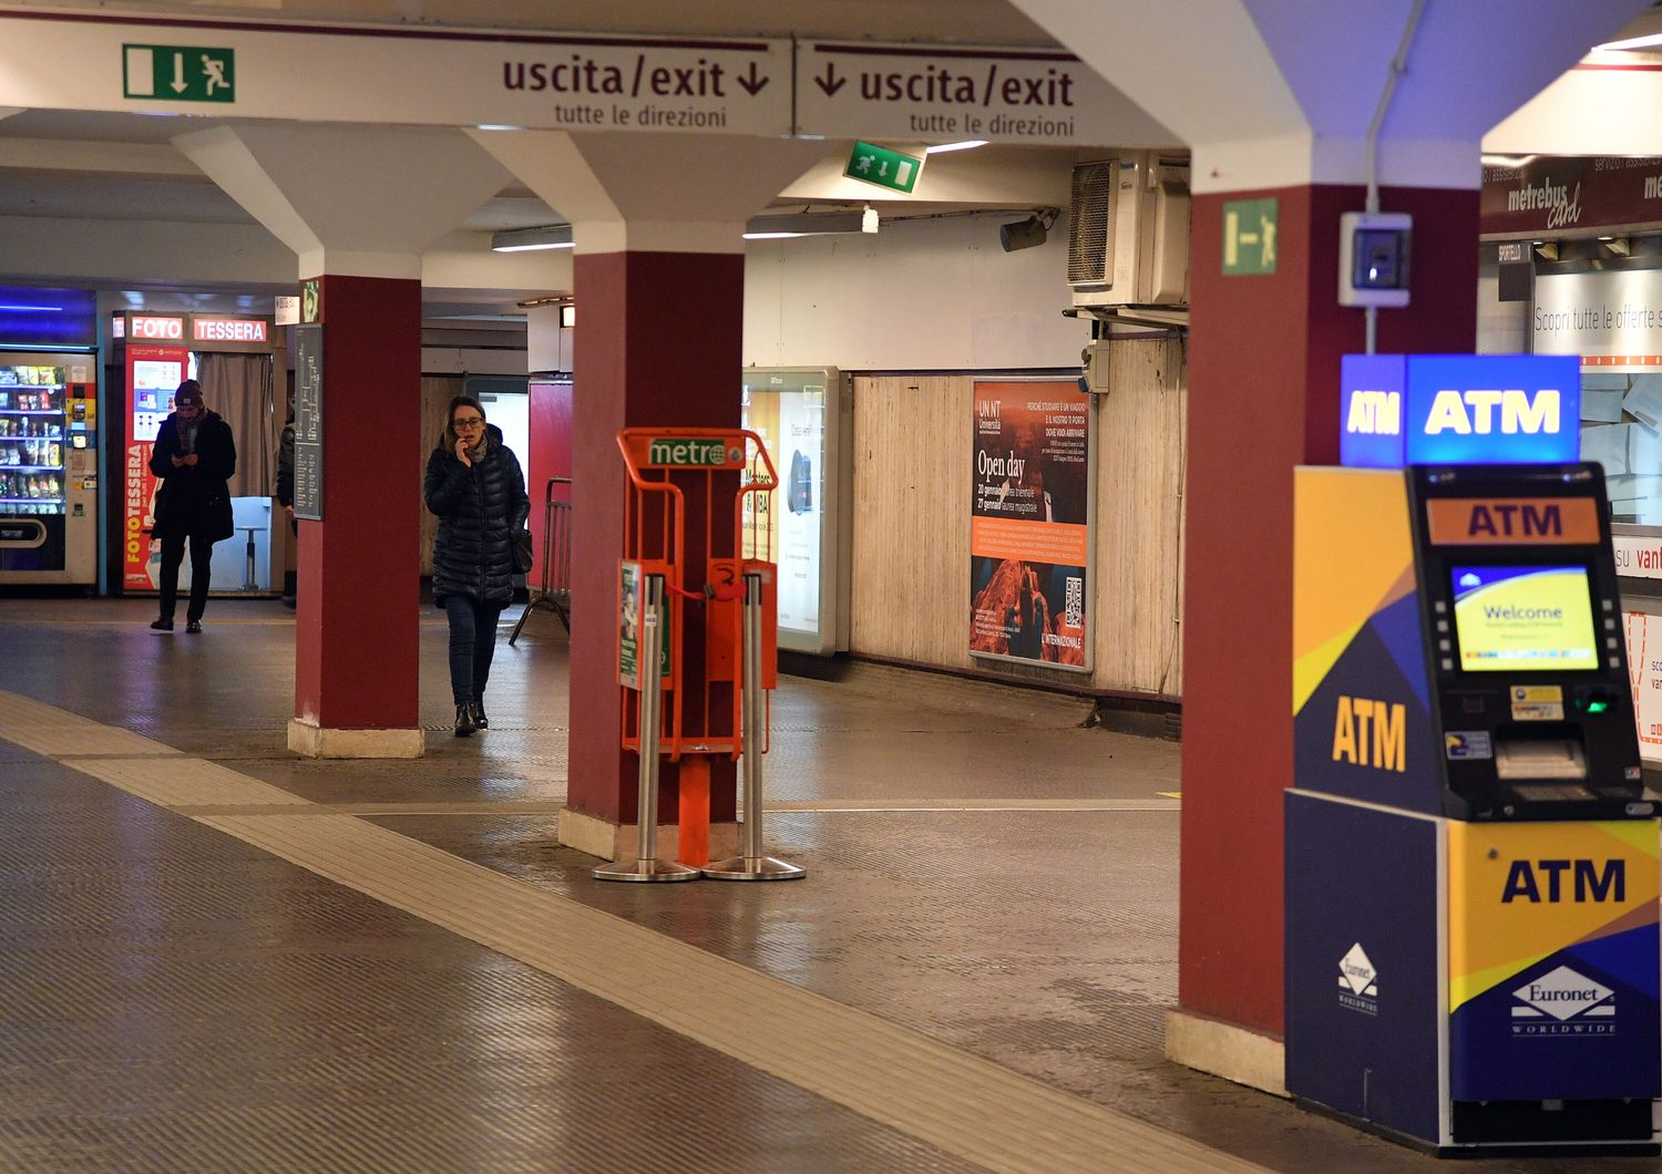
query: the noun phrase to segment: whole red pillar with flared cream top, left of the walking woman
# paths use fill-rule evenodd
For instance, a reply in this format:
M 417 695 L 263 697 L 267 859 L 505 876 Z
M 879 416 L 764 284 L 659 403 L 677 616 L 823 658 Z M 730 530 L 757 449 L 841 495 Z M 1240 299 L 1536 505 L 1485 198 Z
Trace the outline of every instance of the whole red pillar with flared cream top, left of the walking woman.
M 416 757 L 420 254 L 510 176 L 460 131 L 261 125 L 175 144 L 321 292 L 322 520 L 299 523 L 289 749 Z

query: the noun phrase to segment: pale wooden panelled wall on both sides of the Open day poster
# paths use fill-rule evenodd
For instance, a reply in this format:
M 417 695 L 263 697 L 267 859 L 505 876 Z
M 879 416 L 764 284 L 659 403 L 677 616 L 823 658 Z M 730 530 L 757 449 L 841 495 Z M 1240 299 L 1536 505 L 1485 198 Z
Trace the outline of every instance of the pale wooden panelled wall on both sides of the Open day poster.
M 1185 354 L 1110 345 L 1094 400 L 1090 674 L 969 656 L 974 375 L 856 375 L 851 648 L 942 668 L 1182 694 Z

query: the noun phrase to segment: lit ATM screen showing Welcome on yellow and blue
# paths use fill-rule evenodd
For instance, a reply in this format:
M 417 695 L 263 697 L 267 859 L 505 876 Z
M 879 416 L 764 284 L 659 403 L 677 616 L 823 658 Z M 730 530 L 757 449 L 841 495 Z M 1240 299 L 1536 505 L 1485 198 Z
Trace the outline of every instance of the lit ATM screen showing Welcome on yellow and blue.
M 1599 668 L 1586 566 L 1454 566 L 1449 575 L 1464 671 Z

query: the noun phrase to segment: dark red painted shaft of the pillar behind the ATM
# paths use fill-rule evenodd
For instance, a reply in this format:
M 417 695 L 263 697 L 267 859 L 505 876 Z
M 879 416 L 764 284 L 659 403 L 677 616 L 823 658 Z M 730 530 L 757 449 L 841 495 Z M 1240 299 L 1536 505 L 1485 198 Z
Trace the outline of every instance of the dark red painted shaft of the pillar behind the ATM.
M 1340 214 L 1363 189 L 1193 201 L 1178 1001 L 1280 1035 L 1281 792 L 1293 770 L 1293 467 L 1338 463 L 1340 359 L 1365 345 L 1338 306 Z M 1225 277 L 1223 204 L 1280 201 L 1273 274 Z M 1478 193 L 1386 189 L 1411 213 L 1413 302 L 1378 350 L 1466 352 L 1478 325 Z M 1343 878 L 1335 878 L 1341 883 Z

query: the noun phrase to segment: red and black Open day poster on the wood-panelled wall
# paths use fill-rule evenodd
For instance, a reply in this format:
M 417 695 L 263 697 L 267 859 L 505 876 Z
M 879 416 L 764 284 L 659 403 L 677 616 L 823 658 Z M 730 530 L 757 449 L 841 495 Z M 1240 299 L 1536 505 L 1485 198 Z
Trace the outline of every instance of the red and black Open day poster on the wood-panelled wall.
M 1089 671 L 1090 395 L 977 382 L 969 651 Z

